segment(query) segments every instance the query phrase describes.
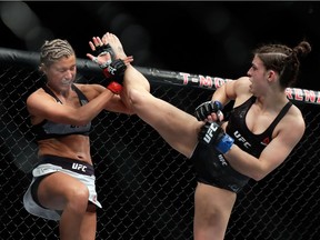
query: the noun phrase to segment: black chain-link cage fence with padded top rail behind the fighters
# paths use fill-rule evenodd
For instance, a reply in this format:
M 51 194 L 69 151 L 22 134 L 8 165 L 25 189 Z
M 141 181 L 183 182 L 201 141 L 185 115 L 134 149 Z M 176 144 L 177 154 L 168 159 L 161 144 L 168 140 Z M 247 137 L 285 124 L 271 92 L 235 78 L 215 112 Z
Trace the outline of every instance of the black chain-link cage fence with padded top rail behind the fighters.
M 1 239 L 58 239 L 56 221 L 29 214 L 22 196 L 37 163 L 26 99 L 43 83 L 36 52 L 0 48 Z M 90 60 L 78 59 L 77 81 L 101 83 Z M 151 93 L 193 113 L 229 79 L 137 67 Z M 320 92 L 287 89 L 307 129 L 288 159 L 238 194 L 226 240 L 320 239 Z M 229 106 L 226 107 L 228 110 Z M 228 118 L 228 114 L 227 114 Z M 183 122 L 181 122 L 183 124 Z M 93 120 L 91 153 L 97 176 L 97 239 L 192 239 L 194 171 L 137 116 L 101 112 Z

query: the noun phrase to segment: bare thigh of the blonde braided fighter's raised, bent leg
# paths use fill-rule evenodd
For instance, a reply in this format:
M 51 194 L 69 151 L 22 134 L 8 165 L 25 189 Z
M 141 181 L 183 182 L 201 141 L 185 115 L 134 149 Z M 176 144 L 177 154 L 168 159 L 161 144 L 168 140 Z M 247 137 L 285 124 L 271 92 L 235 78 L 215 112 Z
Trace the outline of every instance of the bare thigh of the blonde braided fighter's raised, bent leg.
M 89 196 L 86 184 L 63 172 L 54 172 L 46 177 L 38 187 L 38 200 L 47 208 L 63 209 L 74 193 L 84 192 Z

